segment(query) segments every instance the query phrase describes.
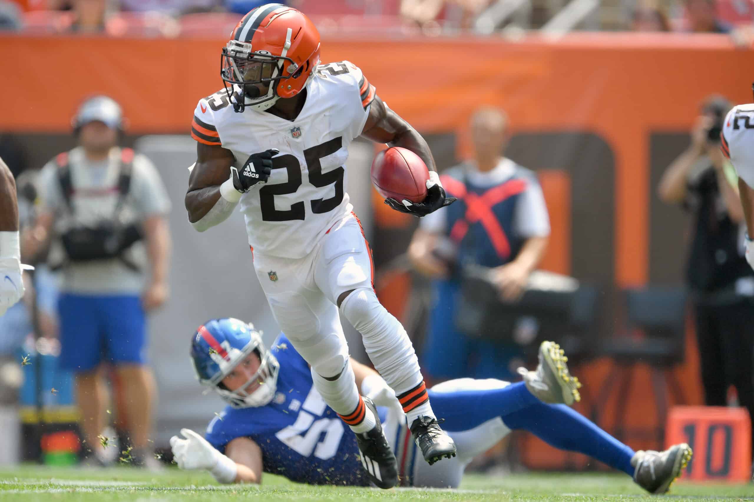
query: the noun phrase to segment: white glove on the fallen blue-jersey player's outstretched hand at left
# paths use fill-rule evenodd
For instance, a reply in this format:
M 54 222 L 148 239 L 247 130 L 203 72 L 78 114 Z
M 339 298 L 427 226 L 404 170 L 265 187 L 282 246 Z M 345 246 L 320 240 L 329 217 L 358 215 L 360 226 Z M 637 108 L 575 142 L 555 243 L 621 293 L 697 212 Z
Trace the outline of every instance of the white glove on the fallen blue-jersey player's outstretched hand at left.
M 234 482 L 237 467 L 234 461 L 222 455 L 213 445 L 207 442 L 191 429 L 181 429 L 185 437 L 173 436 L 170 438 L 170 448 L 173 450 L 173 460 L 180 469 L 196 470 L 206 469 L 215 476 L 219 482 Z

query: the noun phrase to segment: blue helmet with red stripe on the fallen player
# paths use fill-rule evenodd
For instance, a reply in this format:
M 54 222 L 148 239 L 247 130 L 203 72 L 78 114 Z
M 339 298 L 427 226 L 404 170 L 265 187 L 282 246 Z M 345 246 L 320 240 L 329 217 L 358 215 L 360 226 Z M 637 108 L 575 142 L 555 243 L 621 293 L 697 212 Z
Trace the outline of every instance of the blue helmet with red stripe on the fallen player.
M 259 370 L 237 390 L 225 389 L 222 379 L 252 352 L 259 356 Z M 194 332 L 191 357 L 199 383 L 213 387 L 234 408 L 265 406 L 275 395 L 280 364 L 251 323 L 229 317 L 207 321 Z M 255 381 L 259 387 L 247 393 Z

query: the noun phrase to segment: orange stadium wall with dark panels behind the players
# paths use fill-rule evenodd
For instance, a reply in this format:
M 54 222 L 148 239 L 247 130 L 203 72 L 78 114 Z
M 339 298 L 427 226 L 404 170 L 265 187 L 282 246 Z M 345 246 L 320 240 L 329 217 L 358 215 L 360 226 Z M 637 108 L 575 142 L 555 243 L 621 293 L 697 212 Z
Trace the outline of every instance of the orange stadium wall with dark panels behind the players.
M 75 107 L 93 93 L 124 106 L 131 134 L 188 133 L 197 100 L 221 87 L 216 39 L 26 38 L 0 36 L 0 131 L 61 136 Z M 545 268 L 611 286 L 680 283 L 685 220 L 661 204 L 654 186 L 688 144 L 687 131 L 709 93 L 749 103 L 754 51 L 722 35 L 584 34 L 558 42 L 526 38 L 326 39 L 323 62 L 350 60 L 377 92 L 431 139 L 441 167 L 468 155 L 465 124 L 480 104 L 510 115 L 507 151 L 538 171 L 553 221 Z M 55 153 L 55 152 L 52 152 Z M 406 242 L 413 225 L 375 205 L 378 236 Z M 382 234 L 380 233 L 382 232 Z M 373 242 L 376 256 L 387 246 Z M 384 261 L 384 259 L 383 259 Z M 397 280 L 406 291 L 406 280 Z M 399 311 L 402 302 L 385 298 Z M 400 312 L 397 312 L 400 315 Z M 605 333 L 609 335 L 609 333 Z M 598 387 L 609 363 L 579 369 Z M 689 332 L 676 369 L 685 396 L 700 403 Z M 627 427 L 655 427 L 648 371 L 636 373 Z M 594 391 L 596 392 L 596 391 Z M 590 394 L 581 411 L 589 412 Z M 610 430 L 609 413 L 601 424 Z M 630 439 L 630 438 L 626 438 Z M 637 439 L 636 448 L 657 448 Z M 583 466 L 584 458 L 526 448 L 541 467 Z

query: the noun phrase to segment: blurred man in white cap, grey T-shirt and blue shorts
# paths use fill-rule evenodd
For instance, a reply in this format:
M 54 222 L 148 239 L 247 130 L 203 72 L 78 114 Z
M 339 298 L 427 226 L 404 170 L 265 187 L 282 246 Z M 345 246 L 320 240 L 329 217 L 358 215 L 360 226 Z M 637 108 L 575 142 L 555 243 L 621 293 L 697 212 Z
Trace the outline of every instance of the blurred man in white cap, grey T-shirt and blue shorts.
M 51 240 L 63 273 L 58 314 L 60 366 L 75 372 L 87 462 L 103 464 L 97 436 L 105 424 L 104 360 L 115 366 L 127 403 L 135 464 L 155 467 L 149 451 L 155 384 L 146 366 L 145 313 L 167 299 L 170 200 L 152 163 L 118 148 L 121 107 L 88 99 L 75 117 L 79 146 L 41 173 L 41 213 L 23 234 L 23 254 Z M 149 274 L 146 266 L 149 265 Z M 146 285 L 146 287 L 145 287 Z M 93 453 L 93 455 L 91 455 Z

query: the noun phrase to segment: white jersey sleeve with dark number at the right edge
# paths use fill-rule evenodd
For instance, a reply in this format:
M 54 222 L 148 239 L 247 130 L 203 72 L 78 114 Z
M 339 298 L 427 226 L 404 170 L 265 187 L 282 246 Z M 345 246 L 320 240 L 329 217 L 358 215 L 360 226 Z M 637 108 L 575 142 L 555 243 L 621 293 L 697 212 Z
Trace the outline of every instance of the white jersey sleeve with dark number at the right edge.
M 754 103 L 734 106 L 722 124 L 720 148 L 746 185 L 754 188 Z

